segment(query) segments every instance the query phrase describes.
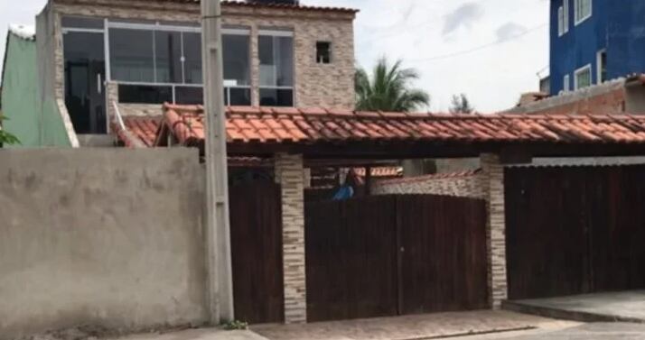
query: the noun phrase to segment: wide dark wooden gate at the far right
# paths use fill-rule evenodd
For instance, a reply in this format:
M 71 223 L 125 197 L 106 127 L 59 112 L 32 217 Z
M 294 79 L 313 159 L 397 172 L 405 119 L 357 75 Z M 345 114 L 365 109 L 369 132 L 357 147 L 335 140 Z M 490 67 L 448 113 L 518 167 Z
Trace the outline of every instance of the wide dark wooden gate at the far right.
M 509 299 L 645 289 L 645 166 L 506 170 Z

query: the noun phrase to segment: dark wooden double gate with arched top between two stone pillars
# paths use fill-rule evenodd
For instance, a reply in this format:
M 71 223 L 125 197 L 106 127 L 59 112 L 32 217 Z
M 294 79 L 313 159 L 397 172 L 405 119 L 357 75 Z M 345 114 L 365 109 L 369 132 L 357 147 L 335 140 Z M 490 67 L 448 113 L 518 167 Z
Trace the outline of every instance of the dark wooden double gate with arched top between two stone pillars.
M 485 214 L 429 195 L 306 204 L 308 319 L 486 308 Z

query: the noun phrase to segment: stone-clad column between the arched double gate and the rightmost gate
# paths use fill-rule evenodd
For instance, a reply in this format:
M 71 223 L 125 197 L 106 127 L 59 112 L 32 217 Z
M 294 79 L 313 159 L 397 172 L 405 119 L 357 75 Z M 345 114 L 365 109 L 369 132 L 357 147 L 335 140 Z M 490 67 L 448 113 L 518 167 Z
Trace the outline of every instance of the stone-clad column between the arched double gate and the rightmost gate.
M 482 188 L 486 198 L 486 249 L 488 253 L 489 301 L 493 309 L 508 299 L 506 276 L 506 216 L 504 209 L 504 167 L 494 154 L 481 155 Z

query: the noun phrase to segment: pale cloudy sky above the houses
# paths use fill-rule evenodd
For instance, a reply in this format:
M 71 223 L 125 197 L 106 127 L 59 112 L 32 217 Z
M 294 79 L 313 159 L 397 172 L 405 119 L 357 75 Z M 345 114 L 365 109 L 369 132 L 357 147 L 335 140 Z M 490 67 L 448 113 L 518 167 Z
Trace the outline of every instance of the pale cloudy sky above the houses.
M 0 55 L 10 23 L 34 24 L 46 0 L 0 0 Z M 402 60 L 447 111 L 456 94 L 481 113 L 514 106 L 538 90 L 548 67 L 548 0 L 301 0 L 306 5 L 357 8 L 356 61 L 371 69 L 385 56 Z M 0 68 L 2 66 L 0 65 Z

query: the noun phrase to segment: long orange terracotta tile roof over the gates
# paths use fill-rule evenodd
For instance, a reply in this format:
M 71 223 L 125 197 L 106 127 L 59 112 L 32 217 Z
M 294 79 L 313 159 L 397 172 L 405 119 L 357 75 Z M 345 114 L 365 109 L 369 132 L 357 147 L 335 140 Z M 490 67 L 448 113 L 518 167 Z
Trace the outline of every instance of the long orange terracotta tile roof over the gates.
M 645 117 L 637 115 L 401 115 L 234 106 L 227 117 L 229 143 L 645 142 Z M 160 124 L 183 145 L 203 142 L 201 106 L 164 105 L 164 117 L 125 119 L 126 129 L 145 146 L 154 145 Z M 124 133 L 117 135 L 133 145 Z

